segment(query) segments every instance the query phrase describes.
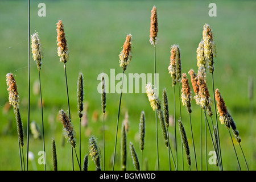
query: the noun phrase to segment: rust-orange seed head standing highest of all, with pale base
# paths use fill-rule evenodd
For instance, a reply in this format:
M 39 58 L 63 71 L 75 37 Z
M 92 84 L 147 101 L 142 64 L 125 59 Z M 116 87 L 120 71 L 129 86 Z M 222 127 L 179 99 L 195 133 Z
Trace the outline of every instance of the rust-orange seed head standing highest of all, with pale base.
M 156 13 L 156 7 L 153 6 L 151 10 L 151 21 L 150 21 L 150 43 L 155 46 L 157 43 L 158 36 L 158 15 Z

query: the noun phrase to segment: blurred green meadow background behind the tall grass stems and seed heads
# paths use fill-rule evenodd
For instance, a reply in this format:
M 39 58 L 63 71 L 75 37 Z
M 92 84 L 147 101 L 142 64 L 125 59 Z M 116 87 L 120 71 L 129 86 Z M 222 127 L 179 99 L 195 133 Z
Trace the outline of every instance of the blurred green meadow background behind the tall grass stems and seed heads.
M 39 3 L 46 4 L 46 17 L 39 17 Z M 97 92 L 100 80 L 98 75 L 104 72 L 110 76 L 110 69 L 115 75 L 122 73 L 119 67 L 119 52 L 127 34 L 133 35 L 133 59 L 126 70 L 129 73 L 154 73 L 154 47 L 149 42 L 150 16 L 152 6 L 158 10 L 158 43 L 156 44 L 156 72 L 159 73 L 159 95 L 162 100 L 163 88 L 167 89 L 170 114 L 174 114 L 174 97 L 172 78 L 168 74 L 171 49 L 178 44 L 181 49 L 182 72 L 190 69 L 197 71 L 196 48 L 202 39 L 205 23 L 212 27 L 217 47 L 214 59 L 214 86 L 220 89 L 225 103 L 236 122 L 242 138 L 241 146 L 245 152 L 250 170 L 256 169 L 255 142 L 255 98 L 250 102 L 248 97 L 248 79 L 253 77 L 255 83 L 255 1 L 214 1 L 217 5 L 217 16 L 210 17 L 209 3 L 212 1 L 31 1 L 30 31 L 39 32 L 43 46 L 43 64 L 41 70 L 42 97 L 44 101 L 44 122 L 46 137 L 47 170 L 52 170 L 51 139 L 56 140 L 57 162 L 59 170 L 71 170 L 71 150 L 67 140 L 63 142 L 63 125 L 59 121 L 58 111 L 67 107 L 65 75 L 63 63 L 57 56 L 56 23 L 63 21 L 69 46 L 67 76 L 71 118 L 77 137 L 79 136 L 79 117 L 77 115 L 77 78 L 79 72 L 84 74 L 84 103 L 88 105 L 88 126 L 82 127 L 82 159 L 88 153 L 88 139 L 94 135 L 102 147 L 102 112 L 101 94 Z M 18 139 L 13 109 L 6 111 L 8 102 L 6 74 L 14 73 L 20 96 L 20 113 L 25 133 L 24 154 L 26 154 L 27 113 L 28 113 L 28 24 L 27 1 L 0 1 L 0 169 L 20 170 Z M 213 96 L 211 75 L 208 73 L 208 87 Z M 38 81 L 38 69 L 31 56 L 31 102 L 30 120 L 35 120 L 41 127 L 40 96 L 34 93 L 33 85 Z M 117 84 L 119 80 L 115 81 Z M 190 77 L 189 77 L 190 82 Z M 142 85 L 144 87 L 144 85 Z M 176 87 L 177 88 L 177 87 Z M 177 90 L 177 89 L 176 89 Z M 255 94 L 255 91 L 254 91 Z M 213 98 L 213 97 L 212 97 Z M 115 127 L 117 122 L 119 94 L 106 95 L 106 131 L 105 159 L 106 170 L 112 170 L 112 154 L 114 152 Z M 178 102 L 176 115 L 179 115 Z M 212 107 L 214 110 L 214 107 Z M 155 113 L 150 107 L 146 93 L 124 93 L 122 96 L 120 123 L 129 113 L 130 129 L 127 143 L 133 142 L 138 156 L 139 150 L 139 118 L 141 111 L 146 115 L 146 135 L 143 158 L 148 159 L 148 169 L 156 168 L 155 147 Z M 189 115 L 184 106 L 181 113 L 189 147 L 191 148 L 191 169 L 195 170 L 192 152 Z M 214 112 L 213 112 L 214 113 Z M 197 165 L 200 169 L 200 107 L 192 102 L 192 125 L 197 151 Z M 213 115 L 214 118 L 214 115 Z M 11 126 L 9 126 L 11 123 Z M 120 170 L 121 124 L 119 123 L 117 158 L 115 169 Z M 225 126 L 218 125 L 224 170 L 237 170 L 237 160 L 232 142 Z M 41 127 L 42 129 L 42 127 Z M 159 129 L 160 170 L 168 170 L 168 153 L 164 146 L 162 131 Z M 171 137 L 174 128 L 170 126 Z M 181 141 L 178 131 L 177 150 L 179 169 L 181 164 Z M 213 150 L 208 135 L 208 151 Z M 63 144 L 64 143 L 64 144 Z M 203 142 L 204 143 L 204 142 Z M 242 170 L 246 170 L 240 147 L 234 144 Z M 174 143 L 171 144 L 174 151 Z M 78 149 L 77 140 L 77 149 Z M 102 149 L 102 148 L 101 148 Z M 29 170 L 43 170 L 37 155 L 43 150 L 42 140 L 30 138 L 30 151 L 35 155 L 35 167 L 30 161 Z M 78 150 L 77 150 L 78 151 Z M 101 151 L 102 152 L 102 151 Z M 209 156 L 208 156 L 209 158 Z M 33 163 L 34 163 L 33 162 Z M 75 169 L 79 169 L 76 160 Z M 145 165 L 143 165 L 145 167 Z M 95 165 L 89 156 L 89 170 Z M 129 146 L 127 146 L 127 169 L 134 170 Z M 174 166 L 172 165 L 172 169 Z M 184 154 L 184 169 L 189 170 Z M 205 154 L 203 149 L 203 170 Z M 209 170 L 217 170 L 208 164 Z

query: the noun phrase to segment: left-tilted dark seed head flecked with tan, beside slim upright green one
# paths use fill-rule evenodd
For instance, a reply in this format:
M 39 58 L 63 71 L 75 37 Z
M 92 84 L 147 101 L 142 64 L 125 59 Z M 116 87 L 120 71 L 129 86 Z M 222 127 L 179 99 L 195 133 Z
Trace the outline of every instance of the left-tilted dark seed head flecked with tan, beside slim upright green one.
M 64 110 L 60 109 L 59 111 L 60 121 L 63 123 L 63 131 L 65 138 L 69 139 L 71 146 L 76 147 L 76 132 L 73 129 L 72 123 Z

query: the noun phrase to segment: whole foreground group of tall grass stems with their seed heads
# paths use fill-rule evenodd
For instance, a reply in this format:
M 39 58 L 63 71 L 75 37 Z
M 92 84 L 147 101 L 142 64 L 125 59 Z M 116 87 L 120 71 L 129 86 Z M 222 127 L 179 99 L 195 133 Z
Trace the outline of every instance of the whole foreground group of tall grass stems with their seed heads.
M 157 22 L 157 14 L 156 14 L 156 7 L 154 6 L 151 11 L 151 27 L 150 27 L 150 43 L 154 46 L 154 74 L 156 75 L 156 43 L 158 42 L 158 22 Z M 64 26 L 61 20 L 57 23 L 57 53 L 60 57 L 60 62 L 64 63 L 64 73 L 65 73 L 65 87 L 67 91 L 67 108 L 68 114 L 65 113 L 64 110 L 60 109 L 59 115 L 60 120 L 63 123 L 63 131 L 65 137 L 71 143 L 71 158 L 72 158 L 72 169 L 74 170 L 74 160 L 73 160 L 73 150 L 75 150 L 75 155 L 77 159 L 77 163 L 79 165 L 80 170 L 87 171 L 88 170 L 88 154 L 84 157 L 84 162 L 82 166 L 81 162 L 81 118 L 82 118 L 82 111 L 84 109 L 83 100 L 84 100 L 84 76 L 82 72 L 79 73 L 79 78 L 77 82 L 77 101 L 78 101 L 78 115 L 79 115 L 79 156 L 76 152 L 76 133 L 73 129 L 73 122 L 71 121 L 71 110 L 69 107 L 69 92 L 68 92 L 68 80 L 67 80 L 67 61 L 68 61 L 68 44 L 67 40 L 65 39 L 64 33 Z M 24 162 L 24 154 L 23 154 L 23 129 L 22 129 L 22 121 L 20 118 L 19 113 L 19 96 L 17 92 L 16 81 L 14 76 L 11 73 L 6 75 L 7 78 L 7 86 L 9 86 L 9 102 L 14 108 L 14 113 L 17 121 L 18 127 L 18 142 L 19 142 L 19 154 L 20 154 L 20 167 L 21 170 L 28 170 L 28 150 L 29 150 L 29 130 L 30 130 L 30 49 L 32 48 L 32 55 L 38 67 L 39 73 L 39 89 L 40 89 L 40 105 L 41 105 L 41 115 L 42 115 L 42 134 L 43 134 L 43 151 L 45 152 L 45 142 L 44 142 L 44 121 L 43 121 L 43 104 L 42 104 L 42 89 L 41 89 L 41 78 L 40 78 L 40 70 L 41 70 L 41 60 L 43 58 L 42 54 L 42 47 L 40 44 L 39 35 L 36 32 L 35 34 L 30 35 L 30 15 L 29 15 L 29 1 L 28 1 L 28 124 L 27 124 L 27 166 L 25 167 Z M 30 42 L 31 36 L 31 42 Z M 123 44 L 123 49 L 119 55 L 119 64 L 120 67 L 123 69 L 123 76 L 125 75 L 125 71 L 127 66 L 131 61 L 131 49 L 132 49 L 132 36 L 131 34 L 126 36 L 125 43 Z M 240 145 L 242 154 L 243 150 L 241 147 L 241 138 L 238 130 L 236 129 L 236 124 L 231 117 L 231 114 L 226 109 L 225 102 L 220 95 L 218 89 L 215 90 L 214 87 L 214 76 L 213 76 L 213 59 L 216 56 L 216 49 L 214 46 L 213 40 L 213 33 L 209 26 L 209 24 L 205 24 L 203 28 L 203 39 L 201 40 L 199 47 L 197 48 L 197 66 L 198 66 L 198 73 L 196 74 L 192 69 L 189 71 L 189 75 L 191 75 L 191 84 L 193 87 L 193 91 L 195 96 L 191 91 L 189 86 L 188 78 L 186 73 L 182 73 L 181 71 L 181 53 L 180 48 L 177 45 L 171 46 L 171 58 L 170 58 L 170 66 L 168 67 L 168 71 L 172 78 L 172 89 L 173 89 L 173 96 L 174 96 L 174 137 L 175 137 L 175 155 L 172 152 L 171 143 L 170 143 L 170 136 L 169 136 L 169 108 L 168 108 L 168 97 L 167 97 L 167 89 L 164 88 L 163 90 L 163 105 L 161 105 L 160 99 L 156 93 L 158 88 L 154 87 L 154 85 L 158 85 L 156 82 L 156 77 L 154 77 L 154 85 L 150 82 L 146 85 L 147 96 L 148 100 L 150 101 L 152 109 L 155 111 L 155 140 L 156 140 L 156 169 L 160 170 L 159 163 L 159 139 L 158 139 L 158 119 L 160 121 L 160 127 L 162 129 L 162 134 L 164 138 L 164 143 L 167 147 L 168 152 L 168 162 L 169 162 L 169 170 L 184 170 L 184 160 L 183 160 L 183 152 L 187 159 L 187 164 L 189 169 L 191 170 L 191 165 L 195 165 L 196 171 L 199 170 L 197 167 L 197 155 L 195 142 L 193 138 L 193 129 L 192 129 L 192 109 L 191 109 L 191 101 L 193 98 L 196 101 L 196 104 L 199 105 L 199 109 L 201 110 L 201 126 L 200 126 L 200 170 L 203 170 L 203 120 L 205 121 L 205 170 L 208 170 L 208 160 L 207 160 L 207 152 L 208 152 L 208 144 L 207 144 L 207 129 L 210 135 L 210 139 L 212 140 L 212 145 L 214 151 L 216 153 L 216 160 L 217 160 L 217 167 L 220 171 L 224 169 L 225 164 L 222 163 L 222 155 L 221 155 L 221 142 L 220 142 L 220 133 L 218 127 L 218 118 L 219 115 L 221 124 L 225 124 L 226 128 L 228 129 L 230 139 L 233 144 L 234 152 L 236 154 L 238 167 L 241 170 L 240 162 L 238 160 L 236 148 L 233 143 L 232 134 L 230 133 L 230 127 L 233 130 L 234 138 Z M 207 88 L 207 71 L 209 71 L 212 77 L 212 88 L 213 88 L 213 104 L 214 104 L 214 113 L 211 110 L 212 100 L 210 98 L 209 90 Z M 182 78 L 182 79 L 181 79 Z M 123 80 L 123 79 L 122 79 Z M 102 86 L 101 86 L 101 103 L 102 103 L 102 115 L 103 115 L 103 159 L 101 159 L 101 150 L 100 146 L 98 145 L 97 138 L 91 136 L 89 138 L 89 155 L 92 157 L 94 164 L 96 166 L 97 171 L 101 171 L 101 160 L 103 160 L 103 170 L 105 170 L 105 112 L 106 112 L 106 92 L 105 92 L 105 78 L 104 73 L 102 73 Z M 170 81 L 171 82 L 171 81 Z M 171 85 L 171 84 L 170 84 Z M 181 86 L 182 85 L 182 86 Z M 179 93 L 179 119 L 177 119 L 176 113 L 176 89 L 178 88 Z M 113 171 L 115 169 L 115 157 L 116 157 L 116 149 L 117 149 L 117 139 L 118 139 L 118 126 L 119 126 L 119 117 L 120 117 L 120 110 L 121 110 L 121 100 L 122 100 L 122 88 L 123 88 L 123 81 L 121 86 L 121 94 L 119 98 L 119 106 L 118 106 L 118 115 L 117 115 L 117 127 L 115 130 L 115 144 L 114 144 L 114 155 L 113 155 Z M 216 98 L 217 97 L 217 98 Z M 252 96 L 251 96 L 252 97 Z M 192 143 L 193 143 L 193 154 L 191 154 L 189 150 L 188 138 L 186 134 L 187 130 L 187 122 L 184 122 L 181 117 L 181 101 L 183 106 L 187 108 L 189 114 L 189 124 L 192 136 Z M 216 104 L 217 101 L 217 104 Z M 218 111 L 217 107 L 218 106 Z M 252 108 L 252 107 L 251 107 Z M 217 113 L 218 112 L 218 113 Z M 213 115 L 215 115 L 215 124 L 213 122 Z M 210 118 L 210 120 L 209 120 Z M 133 160 L 134 169 L 136 170 L 143 170 L 143 150 L 144 150 L 144 136 L 145 136 L 145 113 L 144 111 L 141 112 L 141 118 L 139 118 L 139 134 L 140 134 L 140 150 L 141 150 L 141 162 L 139 162 L 139 158 L 137 152 L 135 150 L 134 144 L 130 142 L 130 153 L 131 158 Z M 210 122 L 209 122 L 210 121 Z M 210 125 L 211 123 L 211 125 Z M 177 125 L 178 124 L 178 125 Z M 179 126 L 180 131 L 180 142 L 181 142 L 181 149 L 177 148 L 177 142 L 179 142 L 179 138 L 177 137 L 177 126 Z M 127 130 L 125 128 L 125 124 L 122 123 L 122 134 L 121 134 L 121 169 L 127 169 Z M 52 138 L 52 165 L 53 170 L 57 170 L 57 156 L 56 156 L 56 144 L 55 139 Z M 180 150 L 180 151 L 179 151 Z M 178 154 L 181 152 L 181 163 L 182 167 L 178 167 L 179 158 Z M 197 155 L 196 155 L 197 154 Z M 195 164 L 191 163 L 191 155 L 195 158 Z M 247 170 L 249 170 L 246 162 L 245 155 L 243 154 L 243 158 L 246 163 Z M 174 169 L 171 168 L 171 161 L 174 164 Z M 45 160 L 46 162 L 46 160 Z M 44 163 L 44 170 L 46 170 L 46 163 Z

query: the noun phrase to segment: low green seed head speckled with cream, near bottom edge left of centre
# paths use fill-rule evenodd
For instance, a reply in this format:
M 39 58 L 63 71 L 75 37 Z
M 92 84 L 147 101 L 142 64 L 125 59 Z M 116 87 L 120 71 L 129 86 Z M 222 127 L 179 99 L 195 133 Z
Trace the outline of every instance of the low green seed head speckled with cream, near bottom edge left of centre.
M 96 166 L 96 171 L 101 171 L 101 154 L 100 147 L 97 144 L 96 138 L 93 136 L 89 138 L 89 151 L 90 156 L 93 158 L 94 164 Z

